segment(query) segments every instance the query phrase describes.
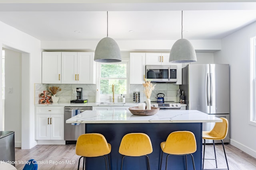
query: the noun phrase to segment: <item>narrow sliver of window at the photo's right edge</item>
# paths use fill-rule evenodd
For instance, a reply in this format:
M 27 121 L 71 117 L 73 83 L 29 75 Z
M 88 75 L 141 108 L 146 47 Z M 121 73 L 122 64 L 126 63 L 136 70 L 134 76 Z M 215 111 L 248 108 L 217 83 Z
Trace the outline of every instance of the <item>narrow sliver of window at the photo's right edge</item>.
M 251 38 L 250 57 L 250 124 L 256 125 L 256 37 Z

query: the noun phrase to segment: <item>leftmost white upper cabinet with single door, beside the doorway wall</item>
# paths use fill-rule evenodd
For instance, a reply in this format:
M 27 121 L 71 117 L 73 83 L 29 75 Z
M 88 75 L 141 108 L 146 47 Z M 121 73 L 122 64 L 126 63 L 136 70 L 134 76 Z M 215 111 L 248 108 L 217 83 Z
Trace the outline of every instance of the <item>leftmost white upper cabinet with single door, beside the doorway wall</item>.
M 42 83 L 61 83 L 61 52 L 42 52 Z

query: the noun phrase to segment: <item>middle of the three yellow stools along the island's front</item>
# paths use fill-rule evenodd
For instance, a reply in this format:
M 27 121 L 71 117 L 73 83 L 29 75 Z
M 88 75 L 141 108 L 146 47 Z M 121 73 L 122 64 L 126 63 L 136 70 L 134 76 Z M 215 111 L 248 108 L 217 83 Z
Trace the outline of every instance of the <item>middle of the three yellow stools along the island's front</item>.
M 122 154 L 121 170 L 125 156 L 146 156 L 147 166 L 150 170 L 148 154 L 153 152 L 150 138 L 145 133 L 128 133 L 124 135 L 119 147 L 119 153 Z

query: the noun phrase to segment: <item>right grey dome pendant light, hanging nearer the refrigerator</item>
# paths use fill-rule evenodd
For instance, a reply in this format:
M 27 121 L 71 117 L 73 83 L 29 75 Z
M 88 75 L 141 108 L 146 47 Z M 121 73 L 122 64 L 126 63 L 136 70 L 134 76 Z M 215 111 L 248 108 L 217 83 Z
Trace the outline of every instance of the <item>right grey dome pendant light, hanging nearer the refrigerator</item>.
M 178 39 L 172 46 L 169 63 L 190 63 L 196 61 L 196 51 L 194 47 L 187 39 L 183 39 L 182 36 L 182 18 L 183 11 L 181 11 L 181 39 Z

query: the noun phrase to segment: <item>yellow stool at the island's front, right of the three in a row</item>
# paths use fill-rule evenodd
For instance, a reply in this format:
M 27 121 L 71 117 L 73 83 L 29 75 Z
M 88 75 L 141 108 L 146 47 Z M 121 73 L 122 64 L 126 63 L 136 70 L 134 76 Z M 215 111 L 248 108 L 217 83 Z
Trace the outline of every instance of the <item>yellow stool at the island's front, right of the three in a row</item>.
M 165 142 L 160 144 L 162 149 L 161 160 L 160 160 L 160 170 L 162 168 L 162 157 L 163 152 L 167 153 L 165 169 L 167 170 L 168 156 L 178 155 L 185 156 L 186 158 L 186 170 L 188 170 L 187 165 L 187 155 L 192 158 L 193 168 L 195 168 L 194 156 L 192 153 L 196 152 L 196 138 L 194 133 L 190 131 L 175 131 L 170 133 Z

